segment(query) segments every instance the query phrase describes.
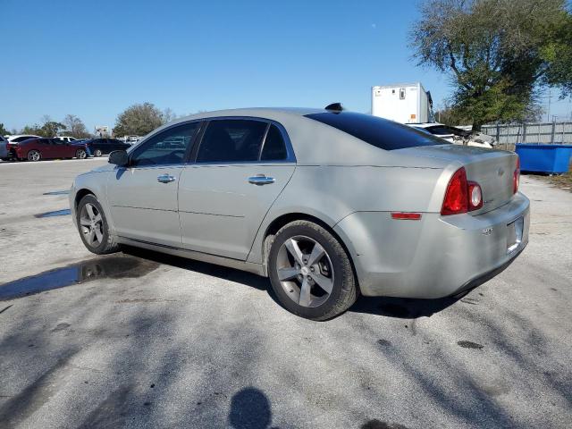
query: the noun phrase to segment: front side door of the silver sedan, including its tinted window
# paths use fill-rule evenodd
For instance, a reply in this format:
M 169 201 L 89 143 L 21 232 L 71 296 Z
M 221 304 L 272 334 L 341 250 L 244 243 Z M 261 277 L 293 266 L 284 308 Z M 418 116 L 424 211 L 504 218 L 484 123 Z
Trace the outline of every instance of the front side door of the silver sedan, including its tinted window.
M 132 240 L 181 247 L 177 188 L 199 122 L 172 126 L 147 139 L 130 153 L 127 167 L 117 167 L 107 180 L 107 198 L 118 235 Z M 184 147 L 165 150 L 177 136 Z

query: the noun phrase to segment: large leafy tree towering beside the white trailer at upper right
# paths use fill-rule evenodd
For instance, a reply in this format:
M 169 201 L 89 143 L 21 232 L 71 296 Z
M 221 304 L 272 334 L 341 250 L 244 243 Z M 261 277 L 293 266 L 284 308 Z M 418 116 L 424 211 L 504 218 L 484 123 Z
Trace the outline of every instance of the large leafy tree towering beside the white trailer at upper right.
M 421 14 L 409 34 L 414 57 L 450 75 L 450 114 L 474 130 L 525 120 L 544 85 L 563 96 L 572 88 L 565 0 L 426 0 Z

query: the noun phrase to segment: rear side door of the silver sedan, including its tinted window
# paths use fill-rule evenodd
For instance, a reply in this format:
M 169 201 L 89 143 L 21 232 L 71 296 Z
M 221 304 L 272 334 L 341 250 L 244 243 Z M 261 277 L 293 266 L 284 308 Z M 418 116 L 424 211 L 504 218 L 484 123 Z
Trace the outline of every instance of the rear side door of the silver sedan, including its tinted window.
M 258 227 L 295 169 L 281 125 L 213 118 L 179 184 L 182 246 L 246 260 Z

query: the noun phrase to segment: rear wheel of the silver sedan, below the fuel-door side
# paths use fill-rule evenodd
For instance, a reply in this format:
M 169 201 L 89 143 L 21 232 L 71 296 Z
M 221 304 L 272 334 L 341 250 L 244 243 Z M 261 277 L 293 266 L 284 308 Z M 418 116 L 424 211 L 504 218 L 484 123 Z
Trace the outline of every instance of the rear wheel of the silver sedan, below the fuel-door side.
M 316 223 L 295 221 L 276 233 L 268 272 L 282 306 L 307 319 L 330 319 L 357 299 L 348 254 L 330 231 Z

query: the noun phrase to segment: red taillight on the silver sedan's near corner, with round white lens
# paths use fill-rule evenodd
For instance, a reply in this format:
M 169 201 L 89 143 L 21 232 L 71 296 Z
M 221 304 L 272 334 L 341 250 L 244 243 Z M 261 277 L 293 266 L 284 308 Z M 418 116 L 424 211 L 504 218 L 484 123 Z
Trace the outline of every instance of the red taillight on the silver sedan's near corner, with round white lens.
M 467 181 L 464 167 L 450 178 L 445 191 L 441 214 L 461 214 L 478 210 L 483 206 L 483 191 L 475 181 Z

